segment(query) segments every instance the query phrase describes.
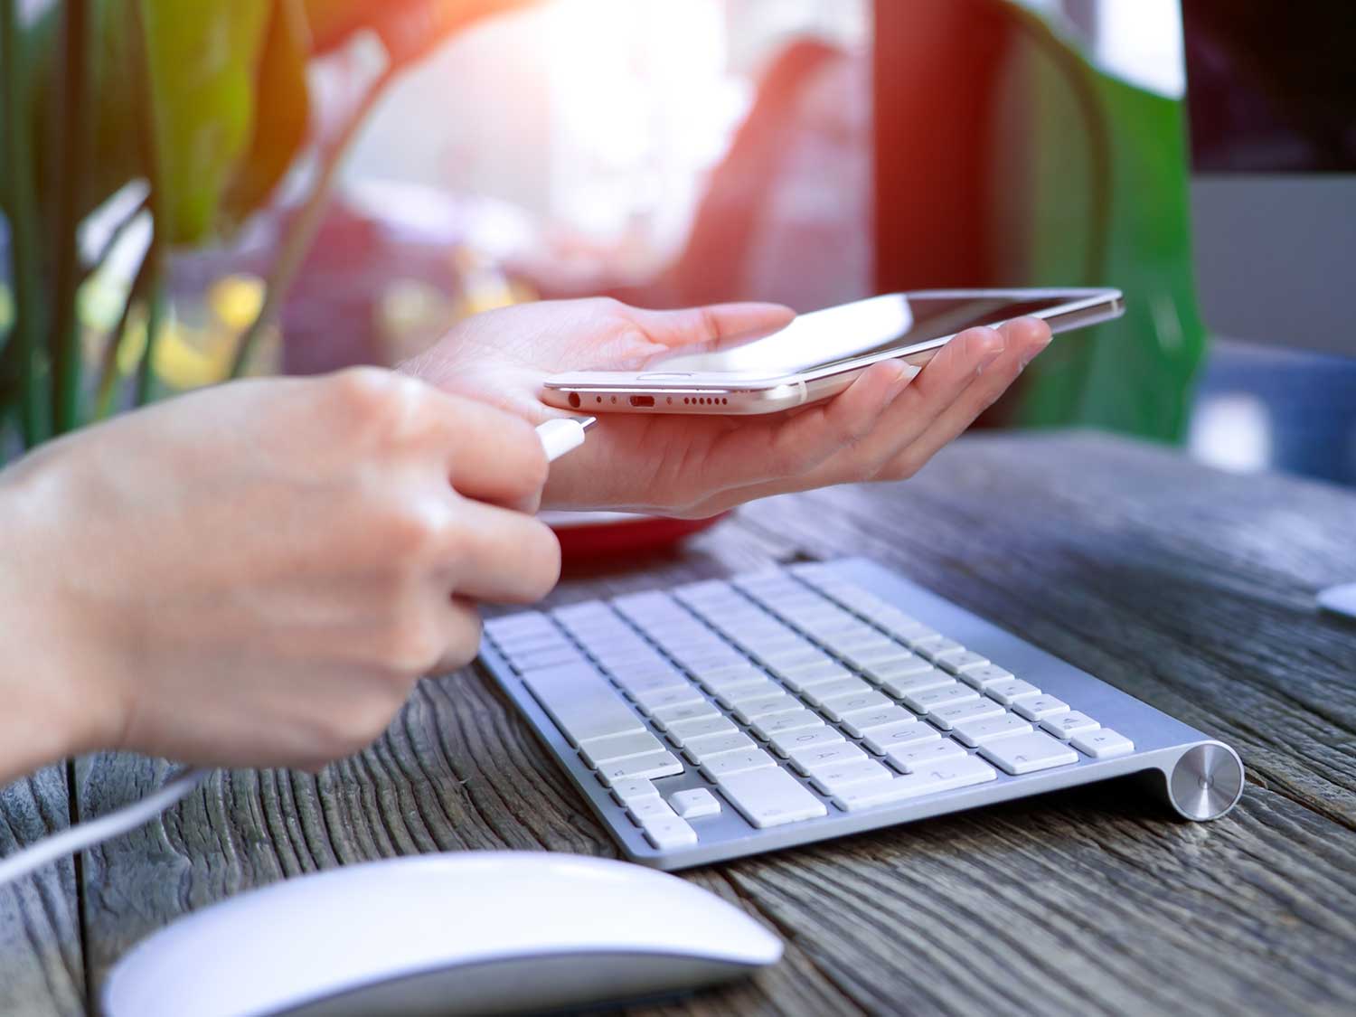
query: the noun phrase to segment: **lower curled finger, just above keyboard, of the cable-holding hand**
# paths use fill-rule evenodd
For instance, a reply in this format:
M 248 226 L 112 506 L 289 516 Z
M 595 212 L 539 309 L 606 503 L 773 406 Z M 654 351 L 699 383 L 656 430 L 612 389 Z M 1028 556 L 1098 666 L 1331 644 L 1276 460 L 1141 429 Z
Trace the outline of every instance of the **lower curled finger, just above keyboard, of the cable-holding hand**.
M 442 541 L 453 593 L 491 603 L 533 603 L 560 579 L 560 541 L 540 519 L 461 499 Z

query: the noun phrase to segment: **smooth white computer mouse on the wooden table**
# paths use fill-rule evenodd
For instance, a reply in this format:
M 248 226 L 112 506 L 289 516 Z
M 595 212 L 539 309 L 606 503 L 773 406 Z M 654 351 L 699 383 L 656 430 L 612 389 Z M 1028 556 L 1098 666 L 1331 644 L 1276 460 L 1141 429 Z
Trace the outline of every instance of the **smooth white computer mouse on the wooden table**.
M 697 989 L 781 941 L 677 876 L 465 852 L 330 869 L 176 921 L 108 976 L 108 1017 L 500 1014 Z

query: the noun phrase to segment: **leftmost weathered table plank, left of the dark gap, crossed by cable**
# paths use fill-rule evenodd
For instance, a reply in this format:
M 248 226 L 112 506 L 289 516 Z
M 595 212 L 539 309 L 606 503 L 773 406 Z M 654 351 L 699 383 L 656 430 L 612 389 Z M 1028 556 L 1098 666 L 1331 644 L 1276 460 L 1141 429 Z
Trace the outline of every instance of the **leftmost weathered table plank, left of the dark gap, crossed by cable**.
M 69 824 L 64 766 L 0 788 L 0 857 Z M 0 1014 L 84 1012 L 76 875 L 71 860 L 0 887 Z

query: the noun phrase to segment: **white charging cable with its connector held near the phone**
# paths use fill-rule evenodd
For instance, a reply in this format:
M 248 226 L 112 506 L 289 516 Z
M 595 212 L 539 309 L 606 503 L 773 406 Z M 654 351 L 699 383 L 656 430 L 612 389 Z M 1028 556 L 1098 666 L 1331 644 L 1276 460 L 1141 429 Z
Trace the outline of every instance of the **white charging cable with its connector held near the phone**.
M 584 431 L 595 423 L 598 423 L 595 416 L 561 416 L 541 424 L 537 428 L 537 435 L 541 438 L 541 446 L 546 450 L 546 461 L 555 462 L 567 452 L 574 452 L 583 445 Z M 210 773 L 212 770 L 199 766 L 182 769 L 163 788 L 153 791 L 140 801 L 106 816 L 77 823 L 69 830 L 43 838 L 31 848 L 0 860 L 0 887 L 23 879 L 49 862 L 111 841 L 129 830 L 136 830 L 142 823 L 149 823 L 207 780 Z

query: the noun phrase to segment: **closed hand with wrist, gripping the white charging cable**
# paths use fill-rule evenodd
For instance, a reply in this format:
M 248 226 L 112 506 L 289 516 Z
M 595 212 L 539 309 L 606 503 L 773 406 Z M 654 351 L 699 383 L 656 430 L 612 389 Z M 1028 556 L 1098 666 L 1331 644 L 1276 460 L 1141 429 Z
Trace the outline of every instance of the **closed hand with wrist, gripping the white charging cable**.
M 519 511 L 545 480 L 521 418 L 377 369 L 222 385 L 41 449 L 0 473 L 0 702 L 50 744 L 0 778 L 104 747 L 355 751 L 475 656 L 473 602 L 556 583 L 555 536 Z

